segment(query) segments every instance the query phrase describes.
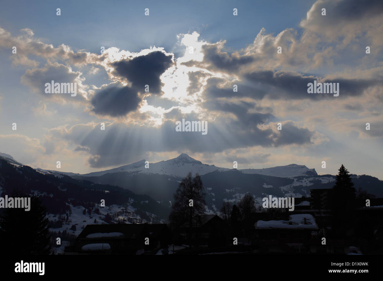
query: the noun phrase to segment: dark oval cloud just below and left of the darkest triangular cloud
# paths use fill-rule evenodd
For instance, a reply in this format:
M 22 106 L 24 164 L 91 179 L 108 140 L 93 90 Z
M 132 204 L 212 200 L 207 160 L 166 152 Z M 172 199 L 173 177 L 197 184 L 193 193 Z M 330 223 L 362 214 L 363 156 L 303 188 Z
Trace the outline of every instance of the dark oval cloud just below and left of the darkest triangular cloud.
M 111 83 L 96 91 L 92 97 L 92 111 L 97 114 L 123 116 L 138 108 L 141 99 L 137 92 L 128 86 Z

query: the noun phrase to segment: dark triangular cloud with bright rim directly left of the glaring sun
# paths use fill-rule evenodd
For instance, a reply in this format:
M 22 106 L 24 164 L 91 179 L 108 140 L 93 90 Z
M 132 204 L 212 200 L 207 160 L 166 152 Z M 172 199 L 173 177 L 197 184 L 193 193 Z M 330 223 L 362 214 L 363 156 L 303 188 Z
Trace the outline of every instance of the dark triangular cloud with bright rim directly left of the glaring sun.
M 161 93 L 160 76 L 172 65 L 172 56 L 155 51 L 130 60 L 120 60 L 111 63 L 115 68 L 112 74 L 126 78 L 132 83 L 137 92 L 144 92 L 145 85 L 149 85 L 150 93 Z

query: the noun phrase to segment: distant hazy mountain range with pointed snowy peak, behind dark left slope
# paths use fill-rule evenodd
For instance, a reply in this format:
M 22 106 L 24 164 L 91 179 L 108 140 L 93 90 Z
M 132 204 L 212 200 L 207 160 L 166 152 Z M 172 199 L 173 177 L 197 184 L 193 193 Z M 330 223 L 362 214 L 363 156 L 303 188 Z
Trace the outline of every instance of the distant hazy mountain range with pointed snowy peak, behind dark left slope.
M 18 163 L 8 154 L 0 154 L 7 161 Z M 164 205 L 173 200 L 173 194 L 188 172 L 201 175 L 206 188 L 208 210 L 215 211 L 222 201 L 236 202 L 245 193 L 251 192 L 257 201 L 266 195 L 309 197 L 310 189 L 332 188 L 335 175 L 318 175 L 315 169 L 304 165 L 290 164 L 264 169 L 228 169 L 203 164 L 182 153 L 177 158 L 149 163 L 145 159 L 113 169 L 76 174 L 36 168 L 42 174 L 56 177 L 69 176 L 95 184 L 113 185 L 128 189 L 136 194 L 149 195 Z M 368 193 L 383 197 L 383 181 L 368 175 L 352 175 L 355 188 L 361 187 Z

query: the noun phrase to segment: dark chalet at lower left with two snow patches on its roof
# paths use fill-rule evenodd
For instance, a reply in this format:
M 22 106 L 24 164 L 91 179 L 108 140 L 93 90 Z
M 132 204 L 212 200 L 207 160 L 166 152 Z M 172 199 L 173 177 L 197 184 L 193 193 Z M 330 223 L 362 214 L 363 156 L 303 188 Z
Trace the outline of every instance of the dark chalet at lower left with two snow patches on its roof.
M 170 237 L 166 224 L 88 224 L 65 252 L 137 254 L 167 248 Z

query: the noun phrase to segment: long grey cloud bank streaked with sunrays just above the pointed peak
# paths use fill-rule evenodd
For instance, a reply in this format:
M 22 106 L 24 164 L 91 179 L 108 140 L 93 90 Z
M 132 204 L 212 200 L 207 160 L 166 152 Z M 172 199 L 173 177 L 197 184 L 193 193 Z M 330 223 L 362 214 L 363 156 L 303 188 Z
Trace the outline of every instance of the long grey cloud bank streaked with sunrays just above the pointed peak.
M 213 110 L 213 104 L 207 106 Z M 151 153 L 185 149 L 191 153 L 222 153 L 227 149 L 254 146 L 311 146 L 321 136 L 312 128 L 293 122 L 283 123 L 282 132 L 277 131 L 276 123 L 269 122 L 273 115 L 249 113 L 254 107 L 256 105 L 250 102 L 223 102 L 214 107 L 217 110 L 214 119 L 203 119 L 203 115 L 194 112 L 185 114 L 174 108 L 164 114 L 165 120 L 158 127 L 113 123 L 107 124 L 103 131 L 100 130 L 100 123 L 88 123 L 70 128 L 58 127 L 49 132 L 54 138 L 87 147 L 86 151 L 90 154 L 88 164 L 93 168 L 139 161 Z M 207 135 L 177 132 L 175 121 L 182 119 L 207 120 Z

